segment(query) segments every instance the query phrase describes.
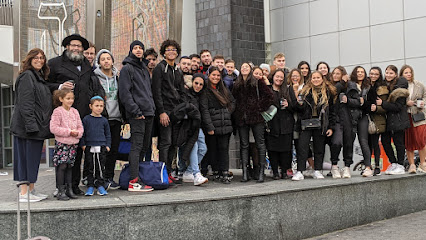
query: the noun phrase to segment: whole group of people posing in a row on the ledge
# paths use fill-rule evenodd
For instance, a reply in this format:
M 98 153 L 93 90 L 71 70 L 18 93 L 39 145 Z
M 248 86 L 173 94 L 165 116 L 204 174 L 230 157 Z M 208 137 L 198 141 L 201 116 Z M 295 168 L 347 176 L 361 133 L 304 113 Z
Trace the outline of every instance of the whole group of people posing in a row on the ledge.
M 408 65 L 399 73 L 389 65 L 384 75 L 379 67 L 367 74 L 361 66 L 349 75 L 342 66 L 331 71 L 325 62 L 315 71 L 306 61 L 290 70 L 285 55 L 277 53 L 271 66 L 244 62 L 237 70 L 232 59 L 212 58 L 209 50 L 178 61 L 180 45 L 168 39 L 159 49 L 160 62 L 153 48 L 145 50 L 142 42 L 133 41 L 118 71 L 109 50 L 96 52 L 78 34 L 66 37 L 62 45 L 63 54 L 49 61 L 43 50 L 30 50 L 16 80 L 11 124 L 14 179 L 30 182 L 29 189 L 25 185 L 21 189 L 22 201 L 27 191 L 30 201 L 47 198 L 35 191 L 34 183 L 43 140 L 52 134 L 58 200 L 91 196 L 95 189 L 106 195 L 119 188 L 114 167 L 123 123 L 130 124 L 131 192 L 153 190 L 140 179 L 139 162 L 151 160 L 154 136 L 170 185 L 205 184 L 209 166 L 213 180 L 231 183 L 233 133 L 240 139 L 243 182 L 265 181 L 267 155 L 275 180 L 324 178 L 327 144 L 332 177 L 350 178 L 356 136 L 364 157 L 363 176 L 380 175 L 379 139 L 391 162 L 387 174 L 405 173 L 406 150 L 408 172 L 426 172 L 426 89 Z M 342 149 L 345 167 L 340 170 Z M 79 188 L 83 153 L 85 192 Z

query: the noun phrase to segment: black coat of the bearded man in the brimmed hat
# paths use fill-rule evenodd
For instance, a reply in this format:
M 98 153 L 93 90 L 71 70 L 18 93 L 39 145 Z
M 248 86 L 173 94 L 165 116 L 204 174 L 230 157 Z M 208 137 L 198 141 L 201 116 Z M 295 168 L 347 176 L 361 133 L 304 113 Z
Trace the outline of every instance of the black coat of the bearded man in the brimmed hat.
M 65 55 L 64 51 L 62 56 L 50 59 L 48 65 L 50 67 L 50 74 L 47 84 L 50 91 L 53 93 L 53 91 L 59 88 L 60 84 L 73 80 L 75 84 L 73 107 L 78 110 L 81 119 L 90 114 L 90 99 L 98 95 L 99 89 L 96 89 L 91 78 L 93 70 L 89 61 L 84 58 L 81 64 L 81 71 L 79 71 L 77 66 Z

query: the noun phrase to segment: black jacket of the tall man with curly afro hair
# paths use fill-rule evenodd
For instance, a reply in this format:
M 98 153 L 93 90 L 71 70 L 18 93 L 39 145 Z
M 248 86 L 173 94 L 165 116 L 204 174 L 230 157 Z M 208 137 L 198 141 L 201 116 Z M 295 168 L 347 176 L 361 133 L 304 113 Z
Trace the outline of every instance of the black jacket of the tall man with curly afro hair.
M 182 102 L 180 95 L 185 91 L 183 88 L 183 74 L 176 64 L 172 67 L 163 60 L 154 68 L 152 94 L 158 115 L 170 115 L 175 106 Z

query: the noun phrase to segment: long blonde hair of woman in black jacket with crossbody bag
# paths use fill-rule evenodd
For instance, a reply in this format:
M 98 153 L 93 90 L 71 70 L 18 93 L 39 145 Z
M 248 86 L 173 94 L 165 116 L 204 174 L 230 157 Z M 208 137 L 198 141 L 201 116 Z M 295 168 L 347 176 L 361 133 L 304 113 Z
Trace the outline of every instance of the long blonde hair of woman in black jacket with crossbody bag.
M 319 99 L 318 92 L 315 90 L 315 86 L 312 84 L 312 76 L 314 74 L 319 74 L 322 78 L 322 84 L 320 86 L 321 99 Z M 327 91 L 330 91 L 330 96 L 327 95 Z M 314 99 L 314 102 L 316 105 L 318 105 L 318 103 L 320 103 L 321 105 L 327 105 L 329 101 L 328 98 L 333 96 L 334 98 L 336 98 L 337 91 L 336 91 L 336 87 L 334 87 L 329 81 L 327 81 L 327 79 L 325 78 L 325 76 L 322 75 L 321 72 L 315 71 L 309 76 L 309 81 L 303 87 L 301 94 L 306 96 L 309 92 L 312 92 L 312 98 Z

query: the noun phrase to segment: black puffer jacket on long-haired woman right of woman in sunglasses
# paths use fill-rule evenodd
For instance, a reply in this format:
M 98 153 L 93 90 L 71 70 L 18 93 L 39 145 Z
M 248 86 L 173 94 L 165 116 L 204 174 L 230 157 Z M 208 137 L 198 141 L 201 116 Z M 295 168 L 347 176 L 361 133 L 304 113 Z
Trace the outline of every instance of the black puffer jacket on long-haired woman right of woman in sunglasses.
M 226 88 L 226 87 L 225 87 Z M 224 135 L 231 133 L 232 128 L 232 112 L 235 109 L 235 99 L 226 88 L 225 91 L 229 92 L 231 97 L 232 106 L 228 110 L 222 106 L 216 96 L 213 94 L 212 89 L 205 89 L 200 96 L 200 112 L 203 122 L 204 132 L 214 131 L 215 135 Z

